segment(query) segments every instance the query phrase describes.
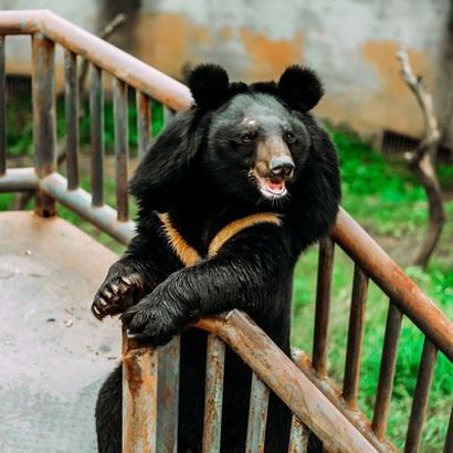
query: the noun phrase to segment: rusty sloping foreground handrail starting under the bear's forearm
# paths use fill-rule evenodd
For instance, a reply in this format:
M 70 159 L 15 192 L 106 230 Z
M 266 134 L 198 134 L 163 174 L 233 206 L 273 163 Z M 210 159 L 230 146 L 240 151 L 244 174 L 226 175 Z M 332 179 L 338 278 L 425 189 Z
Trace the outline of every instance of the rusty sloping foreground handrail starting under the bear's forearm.
M 245 314 L 203 319 L 197 327 L 223 339 L 322 441 L 327 451 L 377 452 L 369 441 Z

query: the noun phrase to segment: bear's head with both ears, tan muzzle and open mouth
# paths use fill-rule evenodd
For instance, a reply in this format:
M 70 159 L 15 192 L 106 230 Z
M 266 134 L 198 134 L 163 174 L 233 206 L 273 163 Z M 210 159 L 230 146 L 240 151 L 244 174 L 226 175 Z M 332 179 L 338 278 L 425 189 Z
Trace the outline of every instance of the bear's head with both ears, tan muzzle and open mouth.
M 204 164 L 220 187 L 242 199 L 287 197 L 310 146 L 301 114 L 323 95 L 313 71 L 291 66 L 278 83 L 245 85 L 230 84 L 220 66 L 201 65 L 189 86 L 197 107 L 211 116 Z

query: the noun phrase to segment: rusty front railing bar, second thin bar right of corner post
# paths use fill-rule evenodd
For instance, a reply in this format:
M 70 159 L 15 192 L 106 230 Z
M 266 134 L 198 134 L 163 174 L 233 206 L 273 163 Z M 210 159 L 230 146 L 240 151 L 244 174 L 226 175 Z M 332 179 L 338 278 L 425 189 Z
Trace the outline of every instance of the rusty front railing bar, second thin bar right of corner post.
M 220 452 L 225 345 L 208 335 L 202 453 Z

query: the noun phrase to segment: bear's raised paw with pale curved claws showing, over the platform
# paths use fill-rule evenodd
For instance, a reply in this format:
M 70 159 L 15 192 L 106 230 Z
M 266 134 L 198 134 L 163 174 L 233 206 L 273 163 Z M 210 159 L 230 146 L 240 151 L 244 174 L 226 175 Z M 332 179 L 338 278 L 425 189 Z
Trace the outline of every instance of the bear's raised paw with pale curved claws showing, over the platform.
M 94 297 L 92 312 L 97 319 L 123 313 L 136 304 L 145 284 L 138 273 L 107 278 Z

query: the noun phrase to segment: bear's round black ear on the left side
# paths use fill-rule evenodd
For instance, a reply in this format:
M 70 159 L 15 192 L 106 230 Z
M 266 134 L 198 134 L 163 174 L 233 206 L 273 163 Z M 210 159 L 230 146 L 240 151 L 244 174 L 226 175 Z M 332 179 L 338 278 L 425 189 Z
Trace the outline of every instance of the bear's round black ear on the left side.
M 189 87 L 197 107 L 214 109 L 229 98 L 227 71 L 217 64 L 200 64 L 189 75 Z

